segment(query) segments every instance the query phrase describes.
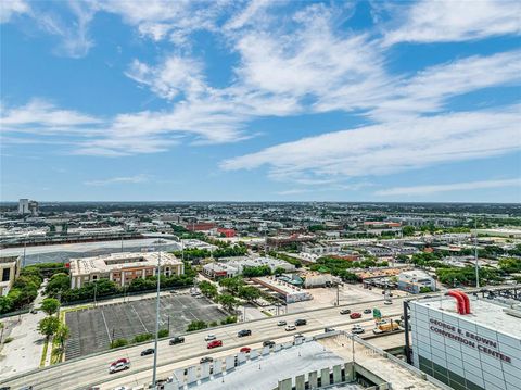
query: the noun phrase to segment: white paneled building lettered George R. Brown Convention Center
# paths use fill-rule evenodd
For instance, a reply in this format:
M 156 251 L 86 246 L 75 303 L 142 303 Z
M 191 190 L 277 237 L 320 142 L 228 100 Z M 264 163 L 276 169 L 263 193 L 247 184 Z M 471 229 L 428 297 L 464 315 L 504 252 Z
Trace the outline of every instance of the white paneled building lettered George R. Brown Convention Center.
M 409 302 L 415 366 L 456 390 L 521 390 L 519 303 L 458 300 Z

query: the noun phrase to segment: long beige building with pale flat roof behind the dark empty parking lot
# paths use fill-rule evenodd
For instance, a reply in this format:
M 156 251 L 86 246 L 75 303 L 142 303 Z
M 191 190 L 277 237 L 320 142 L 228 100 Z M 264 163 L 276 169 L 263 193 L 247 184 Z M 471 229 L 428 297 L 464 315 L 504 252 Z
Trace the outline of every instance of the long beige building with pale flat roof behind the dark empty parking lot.
M 134 279 L 155 275 L 161 253 L 161 274 L 165 276 L 185 274 L 185 264 L 167 252 L 111 253 L 96 257 L 71 259 L 71 288 L 99 280 L 113 280 L 119 286 Z

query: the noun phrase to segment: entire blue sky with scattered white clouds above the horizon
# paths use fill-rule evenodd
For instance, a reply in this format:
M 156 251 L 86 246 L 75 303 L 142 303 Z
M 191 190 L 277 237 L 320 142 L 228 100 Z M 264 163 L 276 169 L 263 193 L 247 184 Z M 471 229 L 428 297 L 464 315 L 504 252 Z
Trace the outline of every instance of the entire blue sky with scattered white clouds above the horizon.
M 521 201 L 519 1 L 0 7 L 2 201 Z

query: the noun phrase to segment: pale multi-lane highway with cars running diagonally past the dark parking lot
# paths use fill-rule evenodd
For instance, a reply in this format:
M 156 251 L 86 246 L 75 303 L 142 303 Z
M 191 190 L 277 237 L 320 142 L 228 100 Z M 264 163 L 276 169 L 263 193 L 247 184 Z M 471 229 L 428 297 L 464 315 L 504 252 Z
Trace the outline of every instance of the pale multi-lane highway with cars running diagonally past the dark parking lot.
M 168 375 L 171 375 L 173 367 L 176 363 L 182 361 L 190 362 L 190 360 L 195 362 L 199 361 L 201 356 L 211 353 L 218 353 L 226 350 L 233 351 L 240 347 L 254 345 L 265 340 L 281 341 L 282 338 L 291 337 L 296 332 L 287 332 L 283 326 L 277 326 L 279 319 L 284 319 L 290 324 L 297 318 L 304 318 L 307 320 L 307 325 L 298 327 L 297 331 L 308 334 L 321 330 L 325 327 L 339 327 L 371 318 L 370 314 L 365 314 L 360 319 L 351 319 L 348 315 L 340 314 L 340 310 L 344 307 L 351 309 L 352 312 L 360 313 L 364 309 L 379 307 L 383 316 L 399 315 L 403 310 L 403 300 L 404 298 L 397 298 L 392 305 L 384 305 L 383 301 L 357 303 L 218 327 L 208 331 L 188 334 L 186 335 L 185 343 L 177 345 L 169 345 L 168 340 L 162 340 L 158 344 L 158 372 L 160 374 L 169 373 Z M 244 328 L 251 329 L 252 336 L 243 338 L 237 337 L 237 332 Z M 223 340 L 224 345 L 215 350 L 207 350 L 204 336 L 208 332 L 215 334 L 218 339 Z M 48 368 L 25 373 L 23 376 L 7 380 L 1 385 L 11 386 L 11 388 L 14 389 L 27 385 L 33 386 L 34 389 L 87 389 L 91 386 L 117 381 L 118 378 L 125 378 L 125 381 L 131 382 L 139 380 L 138 378 L 152 377 L 153 355 L 140 355 L 142 350 L 150 347 L 153 347 L 153 343 L 135 345 L 118 351 L 109 351 L 65 362 Z M 110 363 L 120 357 L 130 358 L 131 368 L 118 374 L 109 374 Z M 142 383 L 142 381 L 140 383 Z

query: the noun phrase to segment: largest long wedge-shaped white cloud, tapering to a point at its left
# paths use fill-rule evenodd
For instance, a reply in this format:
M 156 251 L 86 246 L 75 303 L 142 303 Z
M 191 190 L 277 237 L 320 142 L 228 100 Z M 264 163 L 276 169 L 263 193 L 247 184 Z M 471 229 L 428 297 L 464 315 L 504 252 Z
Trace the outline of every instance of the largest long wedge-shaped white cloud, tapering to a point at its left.
M 411 117 L 325 134 L 229 159 L 224 169 L 270 167 L 276 179 L 386 175 L 521 149 L 520 106 Z

